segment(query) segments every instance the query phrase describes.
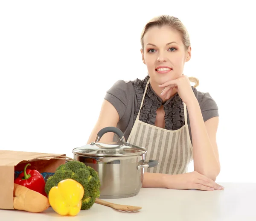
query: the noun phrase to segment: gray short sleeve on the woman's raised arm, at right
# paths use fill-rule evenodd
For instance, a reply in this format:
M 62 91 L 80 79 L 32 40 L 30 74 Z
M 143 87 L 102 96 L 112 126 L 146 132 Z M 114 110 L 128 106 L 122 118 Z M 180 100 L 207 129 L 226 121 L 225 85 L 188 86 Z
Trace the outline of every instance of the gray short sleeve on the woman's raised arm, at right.
M 202 116 L 204 122 L 208 119 L 219 116 L 218 113 L 218 105 L 212 96 L 207 92 L 203 93 L 198 91 L 197 89 L 193 88 L 196 98 L 198 99 L 198 103 L 201 108 Z

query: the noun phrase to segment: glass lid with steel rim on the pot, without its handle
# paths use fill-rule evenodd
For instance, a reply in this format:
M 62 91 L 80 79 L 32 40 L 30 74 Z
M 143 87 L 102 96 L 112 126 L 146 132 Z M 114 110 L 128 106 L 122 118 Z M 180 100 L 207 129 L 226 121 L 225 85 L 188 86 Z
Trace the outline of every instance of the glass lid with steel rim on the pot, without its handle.
M 131 145 L 127 142 L 91 142 L 73 149 L 73 154 L 91 157 L 140 156 L 146 152 L 146 148 Z

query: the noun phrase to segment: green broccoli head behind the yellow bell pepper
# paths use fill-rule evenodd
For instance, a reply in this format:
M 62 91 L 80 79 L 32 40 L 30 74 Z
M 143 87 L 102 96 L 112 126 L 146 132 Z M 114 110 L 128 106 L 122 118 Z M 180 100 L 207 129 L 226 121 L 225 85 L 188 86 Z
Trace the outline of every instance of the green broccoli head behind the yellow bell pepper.
M 98 173 L 79 161 L 69 161 L 59 166 L 55 174 L 48 178 L 45 183 L 45 192 L 49 195 L 49 191 L 53 186 L 58 186 L 61 180 L 73 179 L 81 183 L 84 187 L 84 197 L 82 198 L 81 210 L 90 209 L 95 199 L 100 195 L 100 181 Z

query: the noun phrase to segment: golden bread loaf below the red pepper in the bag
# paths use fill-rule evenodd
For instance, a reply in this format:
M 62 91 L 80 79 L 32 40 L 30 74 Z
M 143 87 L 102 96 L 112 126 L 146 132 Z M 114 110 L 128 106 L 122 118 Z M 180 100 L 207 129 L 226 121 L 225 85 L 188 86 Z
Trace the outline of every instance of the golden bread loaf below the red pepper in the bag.
M 14 183 L 13 207 L 28 212 L 43 212 L 50 206 L 47 197 L 26 186 Z

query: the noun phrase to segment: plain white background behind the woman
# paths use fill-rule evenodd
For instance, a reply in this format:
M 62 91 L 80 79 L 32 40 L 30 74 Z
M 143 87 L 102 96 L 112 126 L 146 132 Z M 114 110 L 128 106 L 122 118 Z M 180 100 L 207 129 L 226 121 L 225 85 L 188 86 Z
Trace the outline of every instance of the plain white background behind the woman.
M 184 74 L 197 77 L 197 89 L 219 107 L 216 182 L 256 182 L 256 16 L 249 2 L 1 1 L 0 149 L 73 157 L 106 90 L 147 75 L 141 31 L 169 14 L 191 38 Z

